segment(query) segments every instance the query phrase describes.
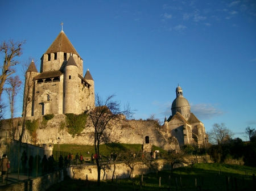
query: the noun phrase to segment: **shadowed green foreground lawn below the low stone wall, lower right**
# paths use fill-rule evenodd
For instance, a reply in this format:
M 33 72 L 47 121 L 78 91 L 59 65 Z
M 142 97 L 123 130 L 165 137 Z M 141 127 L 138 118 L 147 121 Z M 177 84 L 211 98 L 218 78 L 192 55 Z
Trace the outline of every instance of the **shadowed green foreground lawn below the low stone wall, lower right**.
M 221 170 L 221 172 L 220 172 Z M 160 171 L 143 176 L 142 188 L 137 175 L 133 181 L 120 179 L 116 186 L 116 181 L 108 183 L 101 181 L 101 186 L 97 186 L 96 181 L 86 182 L 85 180 L 72 180 L 66 178 L 65 181 L 52 186 L 48 190 L 167 190 L 169 187 L 168 177 L 170 176 L 171 190 L 176 190 L 175 180 L 177 180 L 177 190 L 227 190 L 226 176 L 229 177 L 229 190 L 235 190 L 234 177 L 237 179 L 238 190 L 253 190 L 252 175 L 256 173 L 256 168 L 240 165 L 226 164 L 195 164 L 192 172 L 190 167 L 181 167 L 171 171 Z M 159 179 L 161 177 L 161 186 Z M 196 186 L 197 182 L 197 186 Z M 232 186 L 233 182 L 233 186 Z M 133 189 L 134 184 L 134 189 Z

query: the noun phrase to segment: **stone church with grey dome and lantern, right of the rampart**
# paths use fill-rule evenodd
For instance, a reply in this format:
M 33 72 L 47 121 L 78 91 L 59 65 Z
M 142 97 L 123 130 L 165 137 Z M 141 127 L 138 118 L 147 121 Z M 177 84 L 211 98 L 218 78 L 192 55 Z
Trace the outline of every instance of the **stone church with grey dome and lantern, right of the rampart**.
M 183 97 L 183 90 L 178 85 L 176 98 L 172 102 L 172 115 L 164 119 L 163 130 L 172 142 L 183 145 L 198 145 L 204 147 L 206 133 L 204 124 L 191 113 L 188 100 Z

